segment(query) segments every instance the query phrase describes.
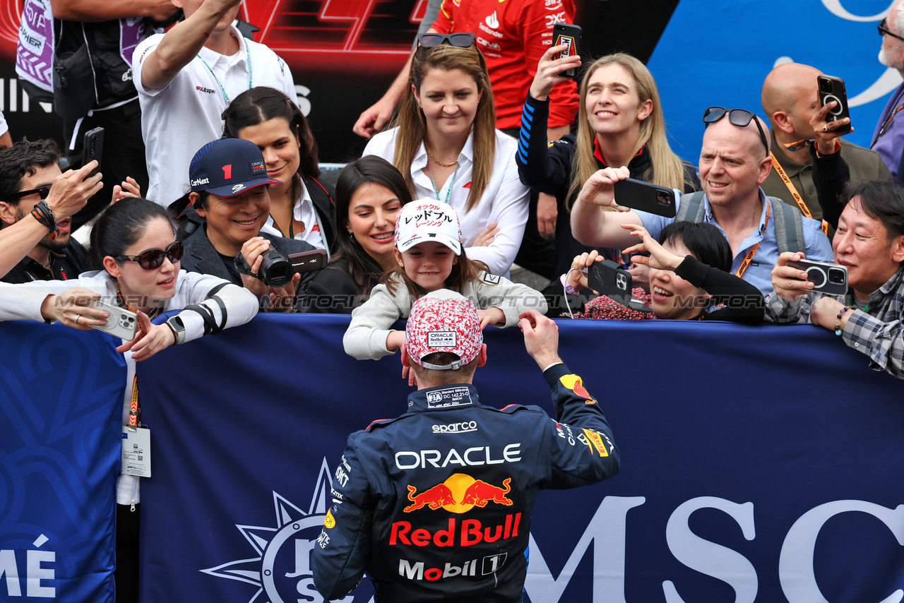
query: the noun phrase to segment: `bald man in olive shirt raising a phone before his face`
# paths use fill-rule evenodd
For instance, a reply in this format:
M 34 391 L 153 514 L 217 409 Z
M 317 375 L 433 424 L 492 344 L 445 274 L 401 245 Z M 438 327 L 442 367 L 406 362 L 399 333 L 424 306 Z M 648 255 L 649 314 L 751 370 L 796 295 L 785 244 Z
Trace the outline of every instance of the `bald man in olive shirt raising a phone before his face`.
M 772 171 L 762 184 L 763 191 L 815 220 L 823 220 L 822 205 L 836 203 L 846 181 L 891 179 L 878 153 L 842 138 L 850 119 L 826 121 L 836 106 L 820 107 L 816 84 L 820 75 L 809 65 L 783 63 L 769 72 L 762 94 L 772 149 Z M 846 176 L 840 179 L 839 174 Z M 830 198 L 824 198 L 823 191 Z M 837 214 L 824 227 L 830 237 L 833 223 Z

